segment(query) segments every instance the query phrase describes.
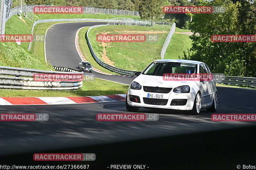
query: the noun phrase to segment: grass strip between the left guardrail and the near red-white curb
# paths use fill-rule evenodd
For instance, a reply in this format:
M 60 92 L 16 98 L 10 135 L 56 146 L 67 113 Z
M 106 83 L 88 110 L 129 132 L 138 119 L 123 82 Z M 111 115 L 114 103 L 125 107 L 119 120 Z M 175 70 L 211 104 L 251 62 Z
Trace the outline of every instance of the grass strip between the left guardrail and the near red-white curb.
M 78 90 L 0 90 L 1 97 L 79 97 L 99 96 L 127 93 L 128 85 L 110 82 L 96 78 L 94 81 L 84 81 Z

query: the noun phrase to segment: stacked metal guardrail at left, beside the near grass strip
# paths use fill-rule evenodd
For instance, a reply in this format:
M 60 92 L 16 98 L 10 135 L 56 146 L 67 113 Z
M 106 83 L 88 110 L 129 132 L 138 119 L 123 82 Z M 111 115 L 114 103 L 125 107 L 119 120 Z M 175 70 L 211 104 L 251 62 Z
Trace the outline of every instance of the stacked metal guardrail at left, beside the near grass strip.
M 67 74 L 70 72 L 76 72 L 83 75 L 83 72 L 76 71 L 74 69 L 66 67 L 56 67 L 56 70 L 63 71 L 47 71 L 47 70 L 35 70 L 24 69 L 17 67 L 0 66 L 0 88 L 7 89 L 34 89 L 34 90 L 75 90 L 83 86 L 82 81 L 76 81 L 71 79 L 67 81 L 36 81 L 33 79 L 34 74 Z M 67 72 L 68 71 L 68 72 Z M 8 76 L 6 76 L 8 75 Z M 31 78 L 30 78 L 31 77 Z

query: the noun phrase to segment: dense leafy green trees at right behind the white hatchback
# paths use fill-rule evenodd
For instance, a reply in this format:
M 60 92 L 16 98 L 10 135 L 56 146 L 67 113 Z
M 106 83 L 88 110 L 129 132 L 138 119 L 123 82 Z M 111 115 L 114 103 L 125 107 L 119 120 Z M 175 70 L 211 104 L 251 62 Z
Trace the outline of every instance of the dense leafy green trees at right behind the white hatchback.
M 242 1 L 242 0 L 241 0 Z M 200 0 L 198 5 L 225 6 L 222 14 L 190 14 L 194 34 L 189 58 L 208 64 L 212 72 L 229 76 L 255 76 L 255 43 L 212 42 L 213 34 L 256 34 L 255 3 Z

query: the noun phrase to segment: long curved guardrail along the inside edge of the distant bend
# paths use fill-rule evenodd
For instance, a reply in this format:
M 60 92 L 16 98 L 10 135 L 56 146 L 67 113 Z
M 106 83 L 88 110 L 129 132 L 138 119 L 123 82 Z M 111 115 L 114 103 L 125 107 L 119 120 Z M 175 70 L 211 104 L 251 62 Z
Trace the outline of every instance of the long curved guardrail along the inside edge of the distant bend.
M 87 33 L 86 33 L 86 39 L 87 39 L 87 42 L 88 42 L 88 46 L 90 48 L 90 51 L 94 57 L 94 59 L 96 60 L 97 63 L 99 63 L 102 67 L 110 70 L 110 71 L 114 71 L 116 73 L 119 73 L 119 74 L 124 74 L 124 75 L 129 75 L 129 76 L 134 76 L 134 73 L 136 71 L 132 71 L 132 70 L 125 70 L 125 69 L 120 69 L 120 68 L 117 68 L 117 67 L 114 67 L 112 65 L 109 65 L 107 63 L 104 63 L 103 61 L 100 60 L 100 58 L 94 53 L 93 49 L 92 49 L 92 45 L 91 45 L 91 42 L 88 38 L 88 33 L 89 31 L 92 29 L 92 28 L 95 28 L 95 27 L 98 27 L 98 26 L 106 26 L 106 25 L 96 25 L 96 26 L 91 26 Z

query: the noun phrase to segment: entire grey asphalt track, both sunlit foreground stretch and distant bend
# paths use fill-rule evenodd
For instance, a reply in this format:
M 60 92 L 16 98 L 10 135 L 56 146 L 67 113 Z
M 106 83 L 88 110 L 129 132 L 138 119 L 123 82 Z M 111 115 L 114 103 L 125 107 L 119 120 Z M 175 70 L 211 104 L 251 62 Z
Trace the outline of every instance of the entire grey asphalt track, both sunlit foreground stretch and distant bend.
M 77 69 L 81 61 L 75 48 L 76 31 L 99 22 L 65 23 L 52 26 L 46 35 L 46 57 L 53 65 Z M 86 56 L 85 56 L 86 57 Z M 94 74 L 95 77 L 130 84 L 133 78 Z M 100 87 L 99 87 L 100 88 Z M 256 90 L 217 87 L 220 114 L 255 113 Z M 213 122 L 210 112 L 199 115 L 177 110 L 140 108 L 140 113 L 157 113 L 158 121 L 100 122 L 98 113 L 129 113 L 125 101 L 73 105 L 1 106 L 1 113 L 47 113 L 46 122 L 1 122 L 1 155 L 44 152 L 53 149 L 111 144 L 157 137 L 174 137 L 201 132 L 255 126 L 255 122 Z M 68 153 L 68 152 L 66 152 Z

